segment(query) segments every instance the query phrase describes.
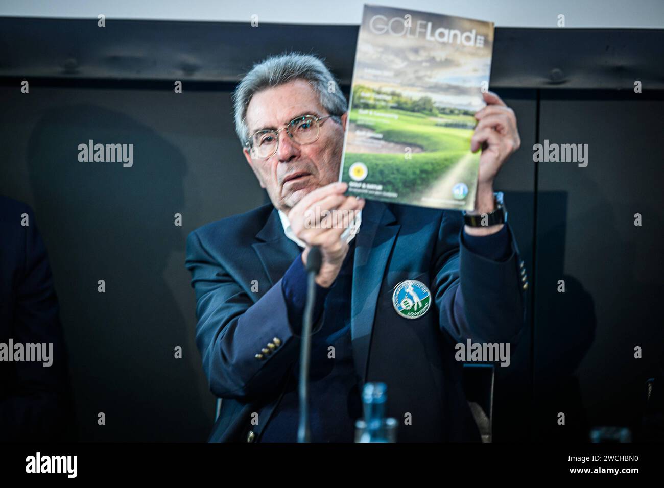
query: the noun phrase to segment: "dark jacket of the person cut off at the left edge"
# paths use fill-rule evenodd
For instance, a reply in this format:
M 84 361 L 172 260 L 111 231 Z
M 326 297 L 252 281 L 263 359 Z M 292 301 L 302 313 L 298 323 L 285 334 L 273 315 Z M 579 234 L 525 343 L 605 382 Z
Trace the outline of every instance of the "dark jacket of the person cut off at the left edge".
M 71 440 L 58 300 L 33 210 L 0 197 L 0 236 L 0 343 L 52 343 L 51 366 L 0 361 L 0 442 Z

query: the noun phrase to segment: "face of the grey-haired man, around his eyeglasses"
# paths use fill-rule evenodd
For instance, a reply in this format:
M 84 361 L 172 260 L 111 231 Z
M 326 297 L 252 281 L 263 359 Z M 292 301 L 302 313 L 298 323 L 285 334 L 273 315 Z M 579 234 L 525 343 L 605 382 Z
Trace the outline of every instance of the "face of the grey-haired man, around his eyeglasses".
M 309 83 L 295 80 L 254 94 L 247 107 L 246 123 L 253 134 L 262 129 L 281 129 L 307 114 L 319 118 L 329 115 Z M 331 118 L 324 120 L 313 144 L 297 145 L 286 130 L 281 131 L 277 152 L 268 159 L 252 159 L 252 153 L 244 149 L 260 186 L 268 191 L 276 208 L 288 213 L 307 193 L 339 179 L 346 118 L 347 114 L 341 116 L 343 125 Z

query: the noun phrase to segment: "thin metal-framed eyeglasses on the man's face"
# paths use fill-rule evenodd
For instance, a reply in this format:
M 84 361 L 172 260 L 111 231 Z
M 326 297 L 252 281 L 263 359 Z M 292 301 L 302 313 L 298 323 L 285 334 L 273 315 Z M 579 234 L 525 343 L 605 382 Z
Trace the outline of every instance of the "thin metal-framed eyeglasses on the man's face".
M 325 119 L 333 116 L 325 116 L 318 118 L 316 116 L 299 116 L 294 118 L 278 130 L 264 129 L 256 131 L 247 139 L 244 145 L 249 151 L 254 153 L 254 157 L 258 159 L 268 159 L 272 157 L 279 148 L 279 133 L 286 129 L 288 137 L 298 145 L 313 144 L 318 140 L 321 133 L 321 123 Z

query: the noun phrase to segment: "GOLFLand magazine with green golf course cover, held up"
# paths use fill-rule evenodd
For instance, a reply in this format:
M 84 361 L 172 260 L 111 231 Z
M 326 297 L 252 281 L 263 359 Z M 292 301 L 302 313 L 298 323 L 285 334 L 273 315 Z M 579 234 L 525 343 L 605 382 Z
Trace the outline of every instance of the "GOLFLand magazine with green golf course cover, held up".
M 386 202 L 473 210 L 493 23 L 365 5 L 340 181 Z

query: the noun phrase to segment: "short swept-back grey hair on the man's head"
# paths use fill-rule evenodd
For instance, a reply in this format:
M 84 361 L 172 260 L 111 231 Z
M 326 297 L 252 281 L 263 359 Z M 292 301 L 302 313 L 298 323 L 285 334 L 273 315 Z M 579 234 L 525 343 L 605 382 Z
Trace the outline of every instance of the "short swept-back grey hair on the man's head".
M 311 88 L 318 94 L 321 106 L 331 116 L 339 117 L 348 110 L 348 102 L 337 80 L 321 58 L 300 52 L 269 56 L 262 62 L 254 64 L 233 94 L 235 131 L 242 145 L 250 135 L 246 124 L 246 113 L 254 94 L 298 79 L 309 82 Z

